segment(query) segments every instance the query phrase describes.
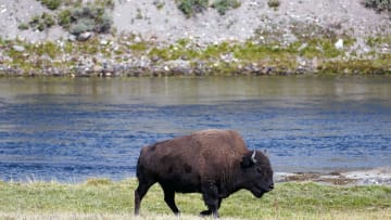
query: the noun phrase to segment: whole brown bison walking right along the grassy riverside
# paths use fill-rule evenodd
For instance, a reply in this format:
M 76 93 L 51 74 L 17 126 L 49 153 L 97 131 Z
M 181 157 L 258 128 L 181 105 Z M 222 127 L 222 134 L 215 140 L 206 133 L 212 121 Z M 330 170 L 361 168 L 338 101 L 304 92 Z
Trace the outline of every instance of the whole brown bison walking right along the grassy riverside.
M 207 206 L 201 215 L 215 217 L 222 199 L 241 189 L 256 197 L 274 189 L 269 159 L 260 151 L 249 151 L 240 134 L 230 130 L 198 131 L 142 147 L 137 178 L 135 215 L 156 182 L 174 213 L 179 213 L 176 192 L 201 193 Z

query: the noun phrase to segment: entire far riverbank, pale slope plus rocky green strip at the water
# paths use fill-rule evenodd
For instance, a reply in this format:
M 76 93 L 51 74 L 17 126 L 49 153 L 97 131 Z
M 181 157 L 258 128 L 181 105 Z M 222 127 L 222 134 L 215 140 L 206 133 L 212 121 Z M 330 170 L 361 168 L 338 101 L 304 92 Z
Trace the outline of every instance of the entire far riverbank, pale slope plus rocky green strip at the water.
M 389 13 L 355 0 L 238 1 L 224 14 L 211 3 L 191 16 L 174 1 L 72 2 L 0 0 L 0 76 L 391 74 Z M 64 24 L 86 13 L 110 31 Z

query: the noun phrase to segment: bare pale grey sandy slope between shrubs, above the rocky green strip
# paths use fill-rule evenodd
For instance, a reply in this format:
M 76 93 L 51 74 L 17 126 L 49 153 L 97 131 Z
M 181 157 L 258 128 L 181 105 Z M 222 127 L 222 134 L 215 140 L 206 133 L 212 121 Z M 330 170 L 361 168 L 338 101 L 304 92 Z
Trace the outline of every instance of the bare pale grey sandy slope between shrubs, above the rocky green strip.
M 191 18 L 186 18 L 177 10 L 174 0 L 160 0 L 164 2 L 162 9 L 157 9 L 153 3 L 155 1 L 117 0 L 113 12 L 117 34 L 140 34 L 144 39 L 161 41 L 192 38 L 201 42 L 215 42 L 244 40 L 253 36 L 254 30 L 262 29 L 264 33 L 275 33 L 280 40 L 289 42 L 294 40 L 292 29 L 301 27 L 303 23 L 354 34 L 356 37 L 391 33 L 389 16 L 365 9 L 361 0 L 280 0 L 277 11 L 267 5 L 267 0 L 241 0 L 241 7 L 228 11 L 226 15 L 207 9 Z M 0 36 L 33 41 L 66 39 L 67 34 L 60 27 L 43 33 L 17 29 L 18 24 L 27 23 L 29 17 L 43 11 L 49 10 L 36 0 L 0 0 Z

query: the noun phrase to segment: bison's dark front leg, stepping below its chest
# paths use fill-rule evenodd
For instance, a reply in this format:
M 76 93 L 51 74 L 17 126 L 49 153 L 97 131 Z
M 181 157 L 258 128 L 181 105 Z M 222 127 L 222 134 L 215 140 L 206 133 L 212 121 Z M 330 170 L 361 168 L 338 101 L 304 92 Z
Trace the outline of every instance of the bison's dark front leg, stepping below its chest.
M 213 217 L 218 218 L 218 208 L 222 203 L 222 198 L 218 196 L 217 186 L 213 182 L 205 183 L 202 184 L 201 191 L 204 203 L 207 206 L 207 210 L 201 211 L 200 215 L 213 215 Z

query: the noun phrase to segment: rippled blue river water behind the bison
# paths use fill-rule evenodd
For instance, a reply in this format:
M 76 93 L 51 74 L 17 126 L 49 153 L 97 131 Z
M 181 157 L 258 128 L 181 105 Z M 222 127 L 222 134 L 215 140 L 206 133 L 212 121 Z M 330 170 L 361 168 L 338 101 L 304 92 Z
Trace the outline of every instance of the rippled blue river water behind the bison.
M 119 180 L 142 145 L 206 128 L 276 171 L 391 165 L 391 77 L 0 78 L 0 179 Z

